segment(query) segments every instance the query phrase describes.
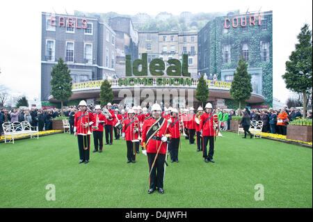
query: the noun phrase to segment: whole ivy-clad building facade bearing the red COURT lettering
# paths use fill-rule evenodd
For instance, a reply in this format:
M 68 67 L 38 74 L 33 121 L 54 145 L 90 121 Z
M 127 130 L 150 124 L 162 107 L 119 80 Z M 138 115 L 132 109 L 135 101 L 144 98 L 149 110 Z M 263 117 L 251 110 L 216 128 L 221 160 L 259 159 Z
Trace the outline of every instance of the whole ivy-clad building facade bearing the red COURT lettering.
M 243 56 L 253 93 L 273 102 L 273 13 L 258 12 L 216 17 L 198 33 L 198 72 L 232 81 Z

